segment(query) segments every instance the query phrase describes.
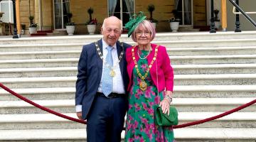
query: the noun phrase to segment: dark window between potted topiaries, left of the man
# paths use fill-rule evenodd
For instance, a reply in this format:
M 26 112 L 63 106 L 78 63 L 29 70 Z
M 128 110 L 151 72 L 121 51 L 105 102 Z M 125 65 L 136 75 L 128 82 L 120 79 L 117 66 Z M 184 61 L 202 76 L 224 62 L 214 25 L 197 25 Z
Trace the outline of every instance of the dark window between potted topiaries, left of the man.
M 68 23 L 67 13 L 70 12 L 69 0 L 54 0 L 53 1 L 54 28 L 63 29 L 65 23 Z

